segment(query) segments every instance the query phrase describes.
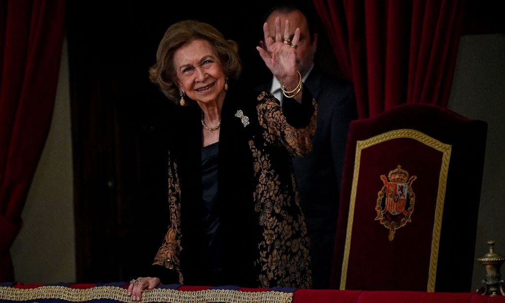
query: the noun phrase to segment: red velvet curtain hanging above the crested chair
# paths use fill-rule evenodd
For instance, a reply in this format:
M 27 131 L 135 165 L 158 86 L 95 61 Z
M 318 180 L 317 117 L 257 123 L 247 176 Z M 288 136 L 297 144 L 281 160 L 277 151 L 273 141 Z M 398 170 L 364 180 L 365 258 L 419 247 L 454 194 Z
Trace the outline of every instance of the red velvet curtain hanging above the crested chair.
M 313 0 L 359 118 L 403 103 L 447 107 L 463 21 L 458 0 Z

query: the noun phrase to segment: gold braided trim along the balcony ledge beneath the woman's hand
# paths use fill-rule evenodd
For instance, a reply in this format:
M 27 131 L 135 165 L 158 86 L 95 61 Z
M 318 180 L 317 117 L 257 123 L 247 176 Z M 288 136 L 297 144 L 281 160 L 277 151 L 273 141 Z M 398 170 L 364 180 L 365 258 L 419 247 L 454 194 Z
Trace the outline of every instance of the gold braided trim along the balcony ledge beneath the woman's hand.
M 142 292 L 140 302 L 276 302 L 289 303 L 293 293 L 281 291 L 248 292 L 228 289 L 207 289 L 197 291 L 179 291 L 174 289 L 151 289 Z M 96 286 L 87 289 L 68 288 L 65 286 L 41 286 L 20 289 L 0 286 L 0 299 L 27 301 L 36 299 L 62 299 L 71 302 L 111 299 L 125 303 L 133 301 L 126 289 L 117 286 Z

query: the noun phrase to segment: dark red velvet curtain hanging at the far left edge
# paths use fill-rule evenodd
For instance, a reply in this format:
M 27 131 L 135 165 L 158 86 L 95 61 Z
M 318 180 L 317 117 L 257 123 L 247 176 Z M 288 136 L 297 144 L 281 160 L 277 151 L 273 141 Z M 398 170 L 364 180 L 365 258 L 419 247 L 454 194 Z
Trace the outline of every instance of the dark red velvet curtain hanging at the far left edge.
M 51 125 L 64 20 L 64 0 L 0 0 L 0 282 L 14 279 L 9 249 Z

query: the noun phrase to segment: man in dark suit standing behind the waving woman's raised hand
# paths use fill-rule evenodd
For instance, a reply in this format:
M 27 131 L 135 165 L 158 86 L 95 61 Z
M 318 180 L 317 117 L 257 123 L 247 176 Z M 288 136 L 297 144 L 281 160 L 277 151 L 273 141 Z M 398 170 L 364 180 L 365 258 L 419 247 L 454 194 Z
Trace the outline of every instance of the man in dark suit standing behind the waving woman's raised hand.
M 316 14 L 311 9 L 295 5 L 276 6 L 267 13 L 264 21 L 269 25 L 271 37 L 275 34 L 277 17 L 280 17 L 281 24 L 289 20 L 290 37 L 293 37 L 295 28 L 300 29 L 296 67 L 316 99 L 318 117 L 312 152 L 306 157 L 293 158 L 292 165 L 310 237 L 313 288 L 328 288 L 347 130 L 357 112 L 352 84 L 326 75 L 314 64 L 319 35 Z M 260 44 L 264 46 L 263 41 Z M 282 91 L 275 76 L 261 89 L 272 92 L 282 103 Z

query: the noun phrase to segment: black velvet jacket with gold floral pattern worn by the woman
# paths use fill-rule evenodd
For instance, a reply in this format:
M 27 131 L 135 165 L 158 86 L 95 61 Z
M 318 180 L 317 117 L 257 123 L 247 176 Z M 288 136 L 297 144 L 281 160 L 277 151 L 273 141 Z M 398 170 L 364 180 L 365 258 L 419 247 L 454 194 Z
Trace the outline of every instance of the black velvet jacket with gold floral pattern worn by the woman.
M 201 207 L 201 111 L 177 106 L 170 121 L 170 226 L 155 257 L 186 279 L 184 264 L 201 260 L 192 247 L 192 216 Z M 230 285 L 311 286 L 309 239 L 291 157 L 312 148 L 316 103 L 267 92 L 228 91 L 221 113 L 218 195 L 224 270 Z M 248 123 L 247 123 L 248 122 Z M 190 280 L 186 279 L 186 283 Z

